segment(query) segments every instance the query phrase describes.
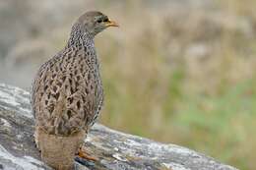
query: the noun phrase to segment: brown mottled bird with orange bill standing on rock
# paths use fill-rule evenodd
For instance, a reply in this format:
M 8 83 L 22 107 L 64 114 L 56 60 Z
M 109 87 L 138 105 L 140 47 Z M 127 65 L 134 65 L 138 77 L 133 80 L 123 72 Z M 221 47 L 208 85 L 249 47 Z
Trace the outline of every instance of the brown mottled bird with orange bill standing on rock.
M 76 154 L 95 124 L 103 87 L 95 36 L 117 23 L 98 11 L 83 14 L 65 47 L 43 63 L 32 83 L 34 142 L 41 160 L 57 170 L 74 168 Z

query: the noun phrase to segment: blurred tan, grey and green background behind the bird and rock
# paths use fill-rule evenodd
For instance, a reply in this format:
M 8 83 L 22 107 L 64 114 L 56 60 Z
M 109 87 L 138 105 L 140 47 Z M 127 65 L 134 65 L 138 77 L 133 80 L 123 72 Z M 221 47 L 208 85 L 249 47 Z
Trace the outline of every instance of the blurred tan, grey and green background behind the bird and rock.
M 256 169 L 255 0 L 0 0 L 0 82 L 31 89 L 74 21 L 117 21 L 96 36 L 100 122 Z

